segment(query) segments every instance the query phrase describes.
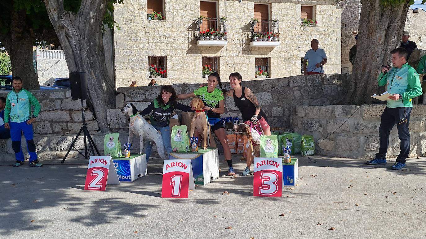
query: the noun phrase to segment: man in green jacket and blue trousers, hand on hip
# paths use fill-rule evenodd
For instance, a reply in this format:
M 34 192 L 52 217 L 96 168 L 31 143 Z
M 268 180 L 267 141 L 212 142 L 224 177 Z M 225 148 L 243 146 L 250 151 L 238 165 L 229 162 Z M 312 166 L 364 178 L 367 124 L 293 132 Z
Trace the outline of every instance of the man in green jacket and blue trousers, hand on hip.
M 34 122 L 40 112 L 40 103 L 38 103 L 32 93 L 22 88 L 22 79 L 19 76 L 12 78 L 12 87 L 13 90 L 6 97 L 4 126 L 10 129 L 12 149 L 16 157 L 16 163 L 13 166 L 19 167 L 24 163 L 24 155 L 21 147 L 22 131 L 27 141 L 29 166 L 41 167 L 43 164 L 37 160 L 32 131 L 32 122 Z M 34 106 L 34 112 L 32 113 L 31 106 Z

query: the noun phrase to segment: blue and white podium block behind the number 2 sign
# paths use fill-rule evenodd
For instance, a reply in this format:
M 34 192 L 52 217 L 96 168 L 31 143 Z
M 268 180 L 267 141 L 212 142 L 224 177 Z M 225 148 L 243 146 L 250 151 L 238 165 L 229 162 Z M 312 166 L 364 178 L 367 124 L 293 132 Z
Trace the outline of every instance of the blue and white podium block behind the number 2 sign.
M 148 174 L 145 154 L 131 154 L 130 158 L 113 157 L 112 161 L 120 181 L 132 182 Z

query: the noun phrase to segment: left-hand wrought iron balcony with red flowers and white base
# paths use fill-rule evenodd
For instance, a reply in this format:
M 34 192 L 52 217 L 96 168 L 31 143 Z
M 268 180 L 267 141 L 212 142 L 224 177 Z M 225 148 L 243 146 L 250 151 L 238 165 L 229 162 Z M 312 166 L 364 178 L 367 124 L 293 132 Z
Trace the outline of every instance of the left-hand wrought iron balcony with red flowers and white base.
M 197 20 L 197 45 L 227 45 L 226 17 Z

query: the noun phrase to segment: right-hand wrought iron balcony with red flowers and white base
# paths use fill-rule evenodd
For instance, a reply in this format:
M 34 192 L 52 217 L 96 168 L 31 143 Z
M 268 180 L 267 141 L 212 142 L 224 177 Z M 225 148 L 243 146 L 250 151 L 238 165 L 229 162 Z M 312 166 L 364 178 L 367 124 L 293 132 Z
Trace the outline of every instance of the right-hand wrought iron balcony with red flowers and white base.
M 279 21 L 278 20 L 251 20 L 251 46 L 274 47 L 279 45 Z

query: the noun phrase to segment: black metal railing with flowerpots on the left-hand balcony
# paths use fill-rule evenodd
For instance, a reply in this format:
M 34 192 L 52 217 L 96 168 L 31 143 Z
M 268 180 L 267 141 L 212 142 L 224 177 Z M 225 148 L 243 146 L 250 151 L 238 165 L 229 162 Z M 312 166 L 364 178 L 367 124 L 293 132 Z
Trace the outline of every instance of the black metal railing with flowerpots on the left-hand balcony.
M 197 24 L 199 40 L 227 40 L 226 18 L 199 17 Z

